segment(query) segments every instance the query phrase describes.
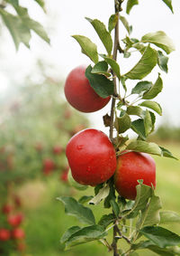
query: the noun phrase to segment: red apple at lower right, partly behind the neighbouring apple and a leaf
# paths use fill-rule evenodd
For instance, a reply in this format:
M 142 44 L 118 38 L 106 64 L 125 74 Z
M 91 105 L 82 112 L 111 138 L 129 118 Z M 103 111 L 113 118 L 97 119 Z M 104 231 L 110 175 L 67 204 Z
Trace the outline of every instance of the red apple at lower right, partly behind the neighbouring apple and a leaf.
M 126 199 L 136 198 L 136 185 L 143 180 L 144 185 L 156 187 L 156 164 L 146 153 L 128 152 L 117 159 L 114 185 L 119 194 Z

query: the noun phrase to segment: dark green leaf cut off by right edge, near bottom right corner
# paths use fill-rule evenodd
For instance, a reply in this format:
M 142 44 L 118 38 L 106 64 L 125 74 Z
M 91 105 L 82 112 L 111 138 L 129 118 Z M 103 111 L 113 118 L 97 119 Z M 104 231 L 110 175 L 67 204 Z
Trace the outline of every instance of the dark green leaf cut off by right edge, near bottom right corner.
M 159 226 L 147 226 L 139 231 L 160 248 L 180 244 L 180 236 Z

